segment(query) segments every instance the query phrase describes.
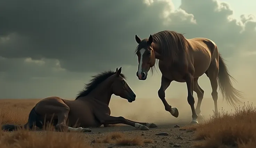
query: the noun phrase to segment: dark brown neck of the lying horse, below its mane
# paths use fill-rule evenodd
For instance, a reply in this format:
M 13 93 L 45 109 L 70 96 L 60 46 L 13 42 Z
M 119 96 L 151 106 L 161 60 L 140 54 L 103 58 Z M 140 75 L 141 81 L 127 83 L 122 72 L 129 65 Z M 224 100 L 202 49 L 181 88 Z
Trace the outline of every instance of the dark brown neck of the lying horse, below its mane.
M 105 82 L 98 85 L 97 88 L 95 88 L 93 91 L 89 93 L 89 96 L 93 99 L 97 99 L 104 104 L 109 105 L 111 96 L 113 94 L 112 88 L 111 88 L 110 81 L 106 80 Z

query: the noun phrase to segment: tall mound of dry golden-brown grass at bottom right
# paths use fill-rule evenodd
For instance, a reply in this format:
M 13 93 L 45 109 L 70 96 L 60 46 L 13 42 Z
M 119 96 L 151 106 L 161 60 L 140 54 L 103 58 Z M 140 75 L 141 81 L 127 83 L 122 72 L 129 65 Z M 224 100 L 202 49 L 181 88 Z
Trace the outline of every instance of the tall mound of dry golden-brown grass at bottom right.
M 195 130 L 197 148 L 253 148 L 256 147 L 256 107 L 252 104 L 238 107 L 232 113 L 222 112 L 196 126 L 183 129 Z

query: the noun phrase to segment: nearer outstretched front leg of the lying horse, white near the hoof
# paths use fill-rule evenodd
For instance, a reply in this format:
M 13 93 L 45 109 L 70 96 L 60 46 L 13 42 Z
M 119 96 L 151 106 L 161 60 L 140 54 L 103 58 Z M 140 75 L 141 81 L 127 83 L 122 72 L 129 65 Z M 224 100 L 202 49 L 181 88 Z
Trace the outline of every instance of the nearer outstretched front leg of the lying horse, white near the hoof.
M 135 127 L 136 129 L 140 129 L 140 130 L 149 130 L 149 128 L 147 128 L 146 125 L 142 125 L 139 123 L 135 123 L 132 121 L 127 120 L 126 118 L 120 116 L 120 117 L 113 117 L 110 115 L 106 115 L 101 117 L 101 119 L 99 119 L 101 121 L 101 124 L 126 124 L 126 125 L 130 125 Z

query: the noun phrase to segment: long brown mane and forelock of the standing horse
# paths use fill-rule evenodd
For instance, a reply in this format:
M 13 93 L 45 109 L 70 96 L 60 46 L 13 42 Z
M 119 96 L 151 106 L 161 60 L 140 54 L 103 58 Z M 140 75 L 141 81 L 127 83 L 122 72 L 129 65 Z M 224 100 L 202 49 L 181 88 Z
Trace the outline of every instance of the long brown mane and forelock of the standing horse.
M 187 39 L 183 36 L 184 33 L 177 33 L 175 31 L 161 31 L 153 34 L 153 43 L 157 44 L 161 55 L 164 59 L 172 59 L 177 61 L 179 56 L 187 52 Z M 135 49 L 135 53 L 147 45 L 148 39 L 143 39 Z M 157 60 L 156 60 L 157 61 Z

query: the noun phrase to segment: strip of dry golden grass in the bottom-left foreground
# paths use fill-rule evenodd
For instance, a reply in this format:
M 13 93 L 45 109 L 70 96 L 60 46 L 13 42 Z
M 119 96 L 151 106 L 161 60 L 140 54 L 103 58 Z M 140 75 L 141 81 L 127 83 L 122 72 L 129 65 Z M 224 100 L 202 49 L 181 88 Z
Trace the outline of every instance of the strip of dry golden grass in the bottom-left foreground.
M 1 135 L 1 148 L 90 148 L 79 133 L 18 130 L 13 133 L 1 132 Z

